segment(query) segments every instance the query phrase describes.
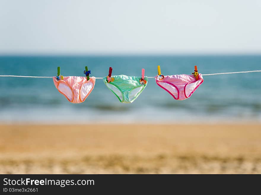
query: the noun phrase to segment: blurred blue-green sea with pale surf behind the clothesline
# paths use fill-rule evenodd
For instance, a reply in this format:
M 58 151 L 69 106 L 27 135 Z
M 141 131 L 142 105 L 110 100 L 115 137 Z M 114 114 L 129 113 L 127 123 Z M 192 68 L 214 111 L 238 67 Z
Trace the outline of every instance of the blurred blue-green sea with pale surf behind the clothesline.
M 261 56 L 1 56 L 0 75 L 104 77 L 221 73 L 261 69 Z M 51 78 L 0 77 L 1 123 L 195 123 L 261 122 L 261 73 L 203 76 L 204 82 L 187 100 L 175 100 L 149 78 L 147 87 L 130 104 L 120 103 L 97 79 L 84 103 L 72 104 Z

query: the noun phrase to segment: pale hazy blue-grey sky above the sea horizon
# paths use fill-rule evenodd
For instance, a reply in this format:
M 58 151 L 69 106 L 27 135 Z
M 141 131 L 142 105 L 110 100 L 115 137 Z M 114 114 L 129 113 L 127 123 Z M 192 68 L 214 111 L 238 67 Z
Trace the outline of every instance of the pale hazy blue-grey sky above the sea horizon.
M 0 55 L 261 54 L 260 10 L 260 0 L 0 0 Z

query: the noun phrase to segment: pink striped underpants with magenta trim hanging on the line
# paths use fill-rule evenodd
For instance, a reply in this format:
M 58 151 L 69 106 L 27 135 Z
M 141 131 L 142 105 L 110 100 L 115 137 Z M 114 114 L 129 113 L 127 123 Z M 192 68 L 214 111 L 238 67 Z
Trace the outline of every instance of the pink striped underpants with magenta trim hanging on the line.
M 194 75 L 185 74 L 165 76 L 163 80 L 156 76 L 155 80 L 157 85 L 165 89 L 175 100 L 189 98 L 204 81 L 201 74 L 198 74 L 198 80 Z

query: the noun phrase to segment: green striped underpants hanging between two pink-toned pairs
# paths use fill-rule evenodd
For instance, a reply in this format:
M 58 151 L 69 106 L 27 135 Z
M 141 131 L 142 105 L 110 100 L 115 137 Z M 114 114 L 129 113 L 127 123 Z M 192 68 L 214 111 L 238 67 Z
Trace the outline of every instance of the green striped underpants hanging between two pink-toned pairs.
M 145 89 L 148 77 L 117 75 L 111 76 L 108 82 L 107 77 L 103 78 L 106 86 L 116 95 L 122 103 L 132 103 Z

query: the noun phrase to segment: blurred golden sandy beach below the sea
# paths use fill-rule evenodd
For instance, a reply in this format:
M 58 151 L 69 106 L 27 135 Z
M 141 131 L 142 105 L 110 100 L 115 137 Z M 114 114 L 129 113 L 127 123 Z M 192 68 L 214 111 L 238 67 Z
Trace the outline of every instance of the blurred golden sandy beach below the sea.
M 261 124 L 0 125 L 0 173 L 261 173 Z

